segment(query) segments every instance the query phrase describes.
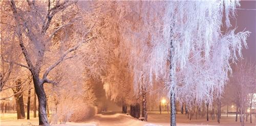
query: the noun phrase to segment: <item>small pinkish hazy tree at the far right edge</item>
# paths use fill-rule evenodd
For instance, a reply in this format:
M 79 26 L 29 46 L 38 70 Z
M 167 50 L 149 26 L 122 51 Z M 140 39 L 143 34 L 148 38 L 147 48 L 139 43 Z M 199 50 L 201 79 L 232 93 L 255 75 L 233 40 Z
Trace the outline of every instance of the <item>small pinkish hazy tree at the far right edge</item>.
M 244 119 L 249 113 L 251 122 L 251 106 L 253 104 L 252 99 L 254 98 L 253 95 L 256 92 L 255 76 L 256 66 L 252 62 L 242 60 L 238 63 L 236 69 L 234 69 L 232 78 L 228 83 L 230 91 L 227 91 L 226 95 L 229 99 L 237 104 L 242 125 L 244 125 Z M 247 110 L 250 112 L 248 113 Z

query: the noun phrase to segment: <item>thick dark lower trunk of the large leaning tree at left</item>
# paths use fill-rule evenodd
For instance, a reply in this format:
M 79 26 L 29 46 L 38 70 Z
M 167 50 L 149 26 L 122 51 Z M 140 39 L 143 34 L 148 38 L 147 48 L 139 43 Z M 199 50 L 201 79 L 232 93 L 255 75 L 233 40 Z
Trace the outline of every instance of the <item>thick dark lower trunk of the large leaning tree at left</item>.
M 46 114 L 46 93 L 44 89 L 44 85 L 39 79 L 39 75 L 33 75 L 33 82 L 35 87 L 35 92 L 38 98 L 38 117 L 39 117 L 39 125 L 48 126 L 49 122 Z

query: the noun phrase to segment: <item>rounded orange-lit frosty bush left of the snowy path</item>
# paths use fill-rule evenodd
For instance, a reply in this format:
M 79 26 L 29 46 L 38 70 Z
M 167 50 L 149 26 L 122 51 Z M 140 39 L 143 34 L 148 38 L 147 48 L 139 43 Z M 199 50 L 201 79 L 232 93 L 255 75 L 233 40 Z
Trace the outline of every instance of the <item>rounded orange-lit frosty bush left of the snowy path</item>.
M 61 93 L 61 96 L 55 98 L 56 110 L 51 117 L 52 123 L 81 121 L 97 114 L 97 108 L 93 106 L 96 98 L 91 89 L 62 89 L 58 93 Z

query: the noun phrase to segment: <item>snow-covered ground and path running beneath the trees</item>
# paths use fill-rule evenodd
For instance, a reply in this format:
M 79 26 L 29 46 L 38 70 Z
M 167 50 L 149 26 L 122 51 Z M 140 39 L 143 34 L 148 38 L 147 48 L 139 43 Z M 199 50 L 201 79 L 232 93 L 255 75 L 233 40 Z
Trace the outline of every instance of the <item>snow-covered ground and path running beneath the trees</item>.
M 32 115 L 32 114 L 31 114 Z M 127 116 L 126 114 L 120 114 L 120 113 L 114 113 L 114 112 L 105 112 L 103 114 L 97 114 L 94 117 L 82 121 L 82 122 L 67 122 L 66 125 L 97 125 L 97 126 L 109 126 L 109 125 L 145 125 L 150 126 L 151 124 L 155 125 L 169 125 L 169 114 L 167 112 L 164 112 L 160 114 L 159 112 L 148 112 L 148 121 L 140 121 L 138 119 L 135 119 L 131 116 Z M 209 120 L 206 121 L 205 118 L 199 118 L 192 120 L 187 119 L 187 116 L 185 114 L 177 114 L 177 125 L 178 126 L 190 126 L 190 125 L 230 125 L 230 126 L 236 126 L 241 125 L 240 122 L 234 121 L 235 116 L 229 115 L 227 118 L 226 115 L 222 115 L 221 117 L 221 123 L 217 122 L 217 119 L 215 120 Z M 249 119 L 249 118 L 248 118 Z M 246 126 L 255 126 L 253 118 L 253 123 L 246 122 Z M 1 121 L 0 125 L 38 125 L 38 118 L 31 118 L 30 120 L 27 119 L 16 119 L 16 114 L 14 113 L 7 113 L 7 114 L 1 114 Z M 58 124 L 63 125 L 63 124 Z

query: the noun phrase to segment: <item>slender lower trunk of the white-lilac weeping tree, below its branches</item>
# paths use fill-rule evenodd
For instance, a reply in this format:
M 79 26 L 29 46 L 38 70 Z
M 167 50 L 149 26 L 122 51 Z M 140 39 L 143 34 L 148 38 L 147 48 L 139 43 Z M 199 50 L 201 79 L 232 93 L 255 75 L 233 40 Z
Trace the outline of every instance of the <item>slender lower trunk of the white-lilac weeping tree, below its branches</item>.
M 170 95 L 170 126 L 176 126 L 176 100 L 175 93 L 171 93 Z

